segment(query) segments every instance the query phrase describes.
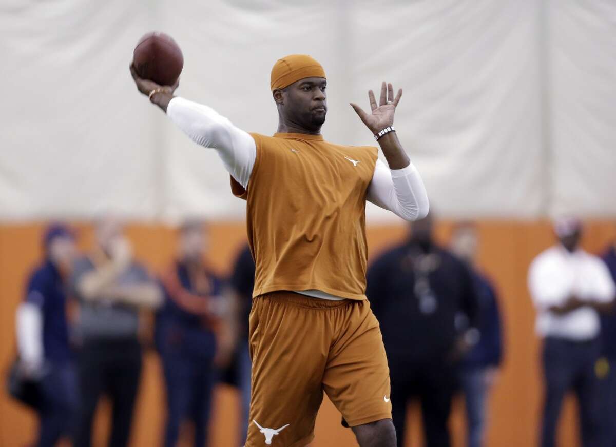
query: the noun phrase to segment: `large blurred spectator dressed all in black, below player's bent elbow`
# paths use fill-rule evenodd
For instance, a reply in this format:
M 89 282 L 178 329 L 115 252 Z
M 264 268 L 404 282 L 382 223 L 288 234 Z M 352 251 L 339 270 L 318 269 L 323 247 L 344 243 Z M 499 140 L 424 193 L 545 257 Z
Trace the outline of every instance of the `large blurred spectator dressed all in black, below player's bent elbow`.
M 399 447 L 412 398 L 421 404 L 426 446 L 448 447 L 456 367 L 479 339 L 477 296 L 468 268 L 432 239 L 432 215 L 410 228 L 405 243 L 370 267 L 367 296 L 387 351 Z

